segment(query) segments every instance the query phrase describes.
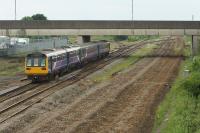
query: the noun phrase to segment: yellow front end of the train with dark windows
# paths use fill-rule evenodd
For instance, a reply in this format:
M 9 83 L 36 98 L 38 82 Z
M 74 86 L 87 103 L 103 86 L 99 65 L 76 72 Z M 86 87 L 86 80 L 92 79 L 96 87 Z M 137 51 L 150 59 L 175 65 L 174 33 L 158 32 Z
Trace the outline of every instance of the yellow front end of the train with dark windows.
M 48 58 L 44 54 L 29 54 L 25 62 L 28 79 L 33 82 L 48 80 Z

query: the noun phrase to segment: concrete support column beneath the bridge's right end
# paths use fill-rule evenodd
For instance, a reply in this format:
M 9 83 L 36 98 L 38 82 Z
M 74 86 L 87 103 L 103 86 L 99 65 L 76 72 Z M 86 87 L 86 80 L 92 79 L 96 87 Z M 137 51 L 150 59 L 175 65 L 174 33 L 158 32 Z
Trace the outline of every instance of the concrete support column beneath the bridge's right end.
M 200 54 L 200 36 L 194 36 L 192 35 L 192 55 L 198 55 Z

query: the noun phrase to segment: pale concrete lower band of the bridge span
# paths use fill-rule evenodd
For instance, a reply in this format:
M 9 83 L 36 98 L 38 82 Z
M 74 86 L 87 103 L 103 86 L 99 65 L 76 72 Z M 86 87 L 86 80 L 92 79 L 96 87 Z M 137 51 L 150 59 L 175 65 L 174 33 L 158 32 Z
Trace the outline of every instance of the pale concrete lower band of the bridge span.
M 0 29 L 0 36 L 200 35 L 200 29 Z

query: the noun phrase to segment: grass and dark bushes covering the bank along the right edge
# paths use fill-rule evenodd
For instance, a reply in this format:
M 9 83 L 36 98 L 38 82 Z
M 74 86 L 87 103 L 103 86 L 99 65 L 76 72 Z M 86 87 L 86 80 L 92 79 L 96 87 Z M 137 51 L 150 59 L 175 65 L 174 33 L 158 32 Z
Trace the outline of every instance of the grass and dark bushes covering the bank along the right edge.
M 191 58 L 191 37 L 185 37 L 186 60 L 179 76 L 157 109 L 153 132 L 200 133 L 200 57 Z M 184 70 L 190 70 L 185 76 Z M 200 94 L 199 94 L 200 95 Z

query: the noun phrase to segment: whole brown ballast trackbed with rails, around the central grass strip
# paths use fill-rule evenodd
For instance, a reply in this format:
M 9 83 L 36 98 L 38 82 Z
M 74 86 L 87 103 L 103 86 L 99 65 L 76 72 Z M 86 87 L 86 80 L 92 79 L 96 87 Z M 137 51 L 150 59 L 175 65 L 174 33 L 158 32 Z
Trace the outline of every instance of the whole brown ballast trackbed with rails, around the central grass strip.
M 150 43 L 158 47 L 132 67 L 109 81 L 92 82 L 89 75 Z M 180 38 L 139 42 L 58 81 L 7 92 L 0 97 L 0 131 L 150 132 L 155 108 L 177 75 L 183 47 Z

